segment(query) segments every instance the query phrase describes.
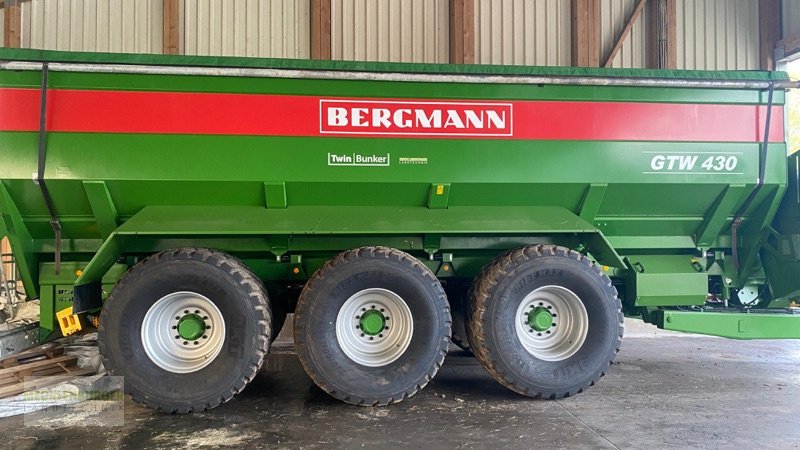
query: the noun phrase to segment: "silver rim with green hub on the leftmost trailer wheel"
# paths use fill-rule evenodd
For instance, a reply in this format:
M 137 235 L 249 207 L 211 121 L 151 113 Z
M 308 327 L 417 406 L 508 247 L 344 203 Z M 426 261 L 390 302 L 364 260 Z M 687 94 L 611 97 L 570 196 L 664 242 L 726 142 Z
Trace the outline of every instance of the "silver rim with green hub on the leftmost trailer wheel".
M 217 306 L 195 292 L 174 292 L 150 307 L 142 321 L 142 344 L 153 363 L 173 373 L 195 372 L 214 361 L 225 342 Z

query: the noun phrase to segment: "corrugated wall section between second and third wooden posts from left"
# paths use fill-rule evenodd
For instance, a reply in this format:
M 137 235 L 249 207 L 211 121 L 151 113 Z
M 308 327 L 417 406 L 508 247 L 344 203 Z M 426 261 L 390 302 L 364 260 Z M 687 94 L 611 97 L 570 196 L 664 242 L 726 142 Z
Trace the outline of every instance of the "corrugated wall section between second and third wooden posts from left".
M 309 58 L 310 0 L 183 0 L 187 55 Z

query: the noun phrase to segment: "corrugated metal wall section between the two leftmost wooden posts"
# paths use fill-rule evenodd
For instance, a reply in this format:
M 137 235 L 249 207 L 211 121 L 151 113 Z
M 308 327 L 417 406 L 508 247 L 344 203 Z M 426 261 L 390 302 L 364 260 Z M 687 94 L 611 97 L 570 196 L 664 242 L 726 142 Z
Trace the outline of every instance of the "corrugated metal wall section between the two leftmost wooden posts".
M 22 3 L 25 48 L 161 53 L 161 0 L 31 0 Z

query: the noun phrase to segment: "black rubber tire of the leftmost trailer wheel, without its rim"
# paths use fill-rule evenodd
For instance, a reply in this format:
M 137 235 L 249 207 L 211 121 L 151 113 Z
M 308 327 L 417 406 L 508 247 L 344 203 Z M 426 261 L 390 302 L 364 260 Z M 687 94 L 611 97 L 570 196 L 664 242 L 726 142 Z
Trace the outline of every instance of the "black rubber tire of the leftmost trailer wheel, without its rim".
M 153 362 L 141 336 L 147 311 L 161 298 L 191 291 L 213 299 L 224 341 L 205 367 L 175 373 Z M 98 333 L 103 364 L 123 376 L 134 401 L 167 413 L 214 408 L 253 380 L 269 350 L 270 307 L 261 281 L 239 260 L 207 249 L 153 255 L 131 268 L 103 306 Z

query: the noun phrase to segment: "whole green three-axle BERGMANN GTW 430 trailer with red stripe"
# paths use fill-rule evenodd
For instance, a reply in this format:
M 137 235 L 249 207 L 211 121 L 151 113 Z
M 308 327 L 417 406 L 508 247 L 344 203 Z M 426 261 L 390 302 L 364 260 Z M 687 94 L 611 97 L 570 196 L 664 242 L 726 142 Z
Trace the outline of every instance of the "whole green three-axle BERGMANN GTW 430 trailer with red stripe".
M 784 74 L 0 61 L 0 236 L 42 333 L 99 316 L 150 407 L 229 400 L 291 311 L 309 376 L 361 405 L 422 389 L 451 335 L 544 398 L 603 375 L 623 314 L 800 338 Z

